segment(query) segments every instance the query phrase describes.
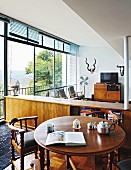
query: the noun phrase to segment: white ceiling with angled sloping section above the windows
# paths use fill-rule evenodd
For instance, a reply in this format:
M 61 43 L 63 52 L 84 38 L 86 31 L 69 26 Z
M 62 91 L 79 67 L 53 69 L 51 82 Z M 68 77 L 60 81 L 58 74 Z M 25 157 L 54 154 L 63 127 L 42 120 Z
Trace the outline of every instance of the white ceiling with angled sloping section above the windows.
M 82 46 L 110 45 L 122 57 L 131 35 L 131 0 L 0 0 L 0 13 Z

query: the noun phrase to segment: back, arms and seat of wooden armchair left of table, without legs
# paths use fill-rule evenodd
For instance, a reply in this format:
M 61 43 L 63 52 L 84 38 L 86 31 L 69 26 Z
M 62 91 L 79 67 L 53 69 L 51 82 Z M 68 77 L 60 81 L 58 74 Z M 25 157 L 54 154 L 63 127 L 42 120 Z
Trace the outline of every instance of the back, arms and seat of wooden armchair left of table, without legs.
M 21 152 L 20 150 L 23 148 L 30 148 L 35 145 L 34 129 L 37 127 L 37 118 L 38 116 L 13 118 L 9 122 L 11 144 L 18 152 Z M 30 124 L 33 124 L 33 128 Z

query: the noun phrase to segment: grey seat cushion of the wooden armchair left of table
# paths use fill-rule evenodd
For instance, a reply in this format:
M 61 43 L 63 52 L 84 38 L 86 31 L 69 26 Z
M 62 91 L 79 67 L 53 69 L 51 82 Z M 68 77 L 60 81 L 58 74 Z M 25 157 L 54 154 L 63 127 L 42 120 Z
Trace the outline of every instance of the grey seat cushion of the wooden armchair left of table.
M 20 145 L 20 135 L 17 135 L 17 142 L 18 145 Z M 31 132 L 26 132 L 24 133 L 24 147 L 29 147 L 29 146 L 34 146 L 35 143 L 35 139 L 34 139 L 34 131 Z

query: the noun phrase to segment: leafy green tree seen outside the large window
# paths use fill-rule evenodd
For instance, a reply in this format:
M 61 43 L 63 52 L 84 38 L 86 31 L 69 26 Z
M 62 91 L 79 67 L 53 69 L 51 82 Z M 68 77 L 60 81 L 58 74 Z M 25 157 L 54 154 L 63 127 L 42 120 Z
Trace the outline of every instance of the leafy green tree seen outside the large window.
M 54 82 L 54 58 L 55 58 L 55 84 L 58 87 L 62 83 L 62 54 L 44 50 L 35 58 L 35 85 L 46 85 L 47 88 L 53 86 Z M 34 63 L 31 61 L 25 68 L 26 74 L 34 73 Z M 33 81 L 30 82 L 33 86 Z

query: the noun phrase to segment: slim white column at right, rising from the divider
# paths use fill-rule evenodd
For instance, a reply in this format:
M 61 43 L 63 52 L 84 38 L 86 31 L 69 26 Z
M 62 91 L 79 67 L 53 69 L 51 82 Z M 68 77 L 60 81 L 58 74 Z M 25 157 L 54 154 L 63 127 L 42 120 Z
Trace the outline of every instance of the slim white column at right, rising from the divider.
M 129 104 L 129 54 L 128 37 L 124 37 L 124 109 L 128 109 Z

